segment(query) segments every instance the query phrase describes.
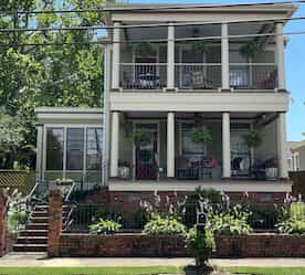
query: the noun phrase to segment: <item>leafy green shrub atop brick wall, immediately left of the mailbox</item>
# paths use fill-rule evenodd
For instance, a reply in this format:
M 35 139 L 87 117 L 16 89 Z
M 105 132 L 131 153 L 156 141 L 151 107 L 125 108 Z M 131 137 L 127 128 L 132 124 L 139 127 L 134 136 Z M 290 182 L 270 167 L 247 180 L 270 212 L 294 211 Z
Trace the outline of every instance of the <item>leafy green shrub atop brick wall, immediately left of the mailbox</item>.
M 161 218 L 152 214 L 151 220 L 144 226 L 143 233 L 148 235 L 185 235 L 186 228 L 173 216 Z

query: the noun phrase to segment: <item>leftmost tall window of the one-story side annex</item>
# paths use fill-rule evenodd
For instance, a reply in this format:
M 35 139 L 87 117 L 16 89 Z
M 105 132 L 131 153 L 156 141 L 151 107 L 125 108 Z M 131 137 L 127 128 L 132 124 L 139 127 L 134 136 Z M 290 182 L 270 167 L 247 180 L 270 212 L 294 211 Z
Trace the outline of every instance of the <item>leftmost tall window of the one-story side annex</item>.
M 46 170 L 63 170 L 63 128 L 48 128 L 46 131 Z

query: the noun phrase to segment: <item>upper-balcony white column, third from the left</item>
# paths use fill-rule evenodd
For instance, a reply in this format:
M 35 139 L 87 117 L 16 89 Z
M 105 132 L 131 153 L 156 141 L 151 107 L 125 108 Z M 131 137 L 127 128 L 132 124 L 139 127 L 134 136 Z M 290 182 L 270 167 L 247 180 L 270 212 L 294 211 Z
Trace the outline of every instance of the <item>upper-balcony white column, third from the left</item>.
M 230 88 L 230 80 L 229 80 L 229 31 L 228 23 L 221 24 L 221 83 L 222 88 Z

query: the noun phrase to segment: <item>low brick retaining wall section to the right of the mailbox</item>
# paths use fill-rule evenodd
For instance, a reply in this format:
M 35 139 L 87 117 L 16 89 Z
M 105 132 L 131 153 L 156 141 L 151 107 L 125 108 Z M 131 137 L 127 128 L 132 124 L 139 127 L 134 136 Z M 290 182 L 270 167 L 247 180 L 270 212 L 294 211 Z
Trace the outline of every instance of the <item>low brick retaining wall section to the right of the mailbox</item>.
M 218 257 L 304 257 L 305 236 L 288 234 L 250 234 L 218 236 Z

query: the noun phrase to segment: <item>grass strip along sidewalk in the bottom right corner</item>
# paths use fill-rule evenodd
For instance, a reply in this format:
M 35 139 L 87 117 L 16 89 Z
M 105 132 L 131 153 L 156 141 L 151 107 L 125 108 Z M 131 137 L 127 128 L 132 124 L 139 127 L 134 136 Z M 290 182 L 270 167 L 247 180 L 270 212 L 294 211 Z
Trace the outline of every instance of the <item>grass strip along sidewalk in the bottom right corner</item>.
M 305 275 L 305 267 L 230 267 L 233 274 Z

